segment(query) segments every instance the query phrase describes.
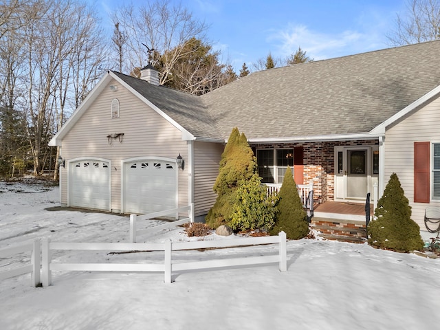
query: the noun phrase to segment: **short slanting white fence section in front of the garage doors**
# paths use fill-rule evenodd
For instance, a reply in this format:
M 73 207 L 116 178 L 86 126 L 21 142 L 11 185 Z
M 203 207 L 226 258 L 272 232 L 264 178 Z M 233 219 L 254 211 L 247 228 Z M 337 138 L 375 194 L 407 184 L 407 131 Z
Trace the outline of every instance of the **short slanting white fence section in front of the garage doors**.
M 171 210 L 164 210 L 159 212 L 154 212 L 150 214 L 144 214 L 144 215 L 136 215 L 136 214 L 130 214 L 130 237 L 129 240 L 131 243 L 135 243 L 136 236 L 142 235 L 142 234 L 148 234 L 151 232 L 157 232 L 159 230 L 163 230 L 166 228 L 174 227 L 176 225 L 183 225 L 187 222 L 194 222 L 194 204 L 191 203 L 188 206 L 182 206 L 181 208 L 173 208 Z M 173 214 L 175 217 L 178 217 L 179 212 L 185 212 L 188 211 L 188 217 L 176 221 L 171 221 L 169 223 L 164 223 L 163 225 L 155 225 L 151 228 L 146 228 L 142 230 L 137 230 L 137 221 L 142 220 L 149 220 L 149 219 L 155 219 L 157 217 L 164 217 L 165 215 Z

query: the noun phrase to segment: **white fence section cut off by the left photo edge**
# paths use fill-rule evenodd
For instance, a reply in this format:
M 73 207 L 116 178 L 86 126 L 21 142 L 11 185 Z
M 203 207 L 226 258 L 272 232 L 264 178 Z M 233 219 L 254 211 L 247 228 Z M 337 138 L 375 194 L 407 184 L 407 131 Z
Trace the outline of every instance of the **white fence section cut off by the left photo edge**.
M 13 254 L 31 252 L 30 264 L 0 272 L 0 280 L 31 273 L 32 286 L 38 287 L 40 282 L 40 241 L 38 239 L 21 243 L 20 245 L 3 248 L 0 250 L 0 258 L 7 258 Z

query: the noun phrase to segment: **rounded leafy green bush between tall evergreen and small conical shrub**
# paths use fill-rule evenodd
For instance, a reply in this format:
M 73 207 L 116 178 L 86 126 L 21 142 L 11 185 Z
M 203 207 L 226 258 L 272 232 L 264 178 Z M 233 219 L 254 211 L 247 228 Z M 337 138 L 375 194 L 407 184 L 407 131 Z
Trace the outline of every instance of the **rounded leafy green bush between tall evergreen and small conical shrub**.
M 249 180 L 241 181 L 236 190 L 229 223 L 233 230 L 270 230 L 274 226 L 276 195 L 267 195 L 267 188 L 261 184 L 261 177 L 254 174 Z

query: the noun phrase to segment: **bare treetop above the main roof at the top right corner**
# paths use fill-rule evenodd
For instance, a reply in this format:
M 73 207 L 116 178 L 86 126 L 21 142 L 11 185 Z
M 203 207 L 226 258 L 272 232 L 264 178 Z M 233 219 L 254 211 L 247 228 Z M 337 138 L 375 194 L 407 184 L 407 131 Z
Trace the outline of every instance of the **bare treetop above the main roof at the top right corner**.
M 397 14 L 395 30 L 387 38 L 395 46 L 440 39 L 440 1 L 406 1 L 406 12 Z

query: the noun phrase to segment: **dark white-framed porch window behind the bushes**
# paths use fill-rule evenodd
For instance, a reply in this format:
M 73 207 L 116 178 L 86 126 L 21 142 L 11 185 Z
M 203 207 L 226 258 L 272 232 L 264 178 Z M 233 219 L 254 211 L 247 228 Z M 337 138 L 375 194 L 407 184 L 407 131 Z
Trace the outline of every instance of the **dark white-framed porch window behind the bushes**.
M 258 149 L 256 163 L 263 183 L 282 184 L 287 166 L 294 168 L 294 149 Z

